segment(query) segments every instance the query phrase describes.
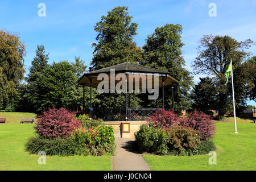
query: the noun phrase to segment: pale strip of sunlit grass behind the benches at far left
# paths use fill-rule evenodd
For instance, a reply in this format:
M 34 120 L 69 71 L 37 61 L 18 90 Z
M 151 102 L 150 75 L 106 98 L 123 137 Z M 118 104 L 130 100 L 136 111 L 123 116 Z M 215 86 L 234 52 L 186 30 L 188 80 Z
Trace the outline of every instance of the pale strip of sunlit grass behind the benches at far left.
M 2 113 L 0 112 L 0 118 L 6 118 L 6 123 L 19 123 L 20 119 L 33 119 L 36 117 L 34 113 Z

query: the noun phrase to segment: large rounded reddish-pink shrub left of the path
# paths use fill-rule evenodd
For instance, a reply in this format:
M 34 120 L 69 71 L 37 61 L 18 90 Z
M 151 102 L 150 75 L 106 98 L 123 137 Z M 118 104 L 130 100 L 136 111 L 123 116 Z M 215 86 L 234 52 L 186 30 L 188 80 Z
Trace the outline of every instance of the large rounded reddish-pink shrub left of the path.
M 74 118 L 75 112 L 67 109 L 48 109 L 39 115 L 35 129 L 44 138 L 67 138 L 76 128 L 81 126 L 81 121 Z

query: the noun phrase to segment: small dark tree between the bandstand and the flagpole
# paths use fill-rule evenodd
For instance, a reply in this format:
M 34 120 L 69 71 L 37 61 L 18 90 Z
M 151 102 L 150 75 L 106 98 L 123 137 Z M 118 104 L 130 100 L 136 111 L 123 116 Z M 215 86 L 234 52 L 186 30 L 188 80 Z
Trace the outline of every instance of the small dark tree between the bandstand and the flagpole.
M 200 111 L 216 109 L 217 90 L 214 80 L 209 77 L 200 78 L 192 92 L 193 108 Z

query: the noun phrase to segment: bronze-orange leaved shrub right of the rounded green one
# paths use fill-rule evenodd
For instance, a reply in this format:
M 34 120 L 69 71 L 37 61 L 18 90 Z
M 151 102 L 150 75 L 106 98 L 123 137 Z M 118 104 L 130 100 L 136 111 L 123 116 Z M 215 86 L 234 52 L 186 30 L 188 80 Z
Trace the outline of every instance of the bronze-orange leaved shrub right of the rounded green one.
M 171 154 L 193 155 L 197 153 L 200 145 L 199 131 L 189 127 L 174 125 L 166 129 L 168 137 L 167 147 Z

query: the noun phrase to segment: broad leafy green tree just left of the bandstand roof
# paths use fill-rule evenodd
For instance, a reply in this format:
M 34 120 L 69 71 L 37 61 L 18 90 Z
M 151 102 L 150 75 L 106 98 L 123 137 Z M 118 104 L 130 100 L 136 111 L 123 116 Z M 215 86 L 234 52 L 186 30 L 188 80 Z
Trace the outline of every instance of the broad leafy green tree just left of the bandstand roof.
M 53 63 L 44 69 L 36 79 L 36 111 L 40 112 L 46 107 L 69 107 L 71 91 L 75 85 L 76 76 L 73 67 L 68 61 Z

